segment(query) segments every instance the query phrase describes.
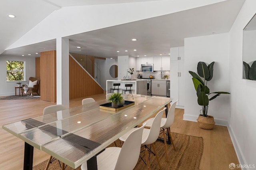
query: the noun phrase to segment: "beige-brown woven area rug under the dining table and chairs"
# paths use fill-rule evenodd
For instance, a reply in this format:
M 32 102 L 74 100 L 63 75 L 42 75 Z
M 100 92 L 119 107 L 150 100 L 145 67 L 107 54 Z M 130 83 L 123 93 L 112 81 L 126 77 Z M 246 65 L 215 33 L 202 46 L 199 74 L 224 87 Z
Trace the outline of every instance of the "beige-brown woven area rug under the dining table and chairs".
M 174 150 L 172 145 L 167 144 L 168 146 L 168 156 L 169 162 L 166 162 L 164 142 L 156 141 L 155 146 L 157 150 L 157 154 L 160 159 L 160 164 L 163 170 L 197 170 L 200 166 L 200 161 L 202 158 L 204 144 L 202 137 L 196 136 L 188 136 L 185 134 L 178 134 L 172 132 L 172 138 L 174 140 L 174 144 L 176 150 Z M 116 141 L 117 145 L 121 147 L 120 140 Z M 110 146 L 114 146 L 111 144 Z M 145 158 L 144 152 L 140 154 L 142 158 Z M 47 160 L 33 167 L 33 170 L 44 170 L 47 164 Z M 60 170 L 60 165 L 58 160 L 55 160 L 50 164 L 48 170 Z M 76 170 L 80 170 L 78 167 Z M 150 169 L 158 170 L 158 164 L 155 156 L 150 154 Z M 66 167 L 65 170 L 73 170 L 69 166 Z M 146 170 L 146 164 L 139 158 L 138 163 L 134 170 Z

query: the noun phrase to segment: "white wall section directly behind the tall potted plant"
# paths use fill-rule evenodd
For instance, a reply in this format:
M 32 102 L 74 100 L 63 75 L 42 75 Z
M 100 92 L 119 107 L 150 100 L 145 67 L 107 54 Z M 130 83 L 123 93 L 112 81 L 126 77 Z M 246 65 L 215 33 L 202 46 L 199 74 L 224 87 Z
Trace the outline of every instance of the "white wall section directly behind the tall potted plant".
M 228 71 L 228 33 L 215 34 L 186 38 L 185 44 L 185 113 L 184 120 L 196 121 L 201 106 L 197 103 L 196 91 L 192 82 L 192 77 L 188 71 L 197 72 L 197 64 L 204 61 L 206 64 L 214 63 L 214 73 L 207 86 L 210 92 L 227 91 L 229 92 L 229 71 Z M 213 95 L 210 95 L 211 97 Z M 214 116 L 216 124 L 228 125 L 230 115 L 230 95 L 222 94 L 209 102 L 208 115 Z

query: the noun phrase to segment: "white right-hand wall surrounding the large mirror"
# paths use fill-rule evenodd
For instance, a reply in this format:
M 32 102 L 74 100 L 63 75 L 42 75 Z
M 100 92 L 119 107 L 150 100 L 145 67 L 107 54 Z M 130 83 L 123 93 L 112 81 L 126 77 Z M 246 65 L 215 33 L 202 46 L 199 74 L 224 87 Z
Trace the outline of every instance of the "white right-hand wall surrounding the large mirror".
M 246 0 L 230 30 L 229 129 L 238 159 L 256 164 L 256 82 L 242 79 L 243 29 L 256 13 L 256 1 Z M 254 55 L 255 56 L 255 55 Z

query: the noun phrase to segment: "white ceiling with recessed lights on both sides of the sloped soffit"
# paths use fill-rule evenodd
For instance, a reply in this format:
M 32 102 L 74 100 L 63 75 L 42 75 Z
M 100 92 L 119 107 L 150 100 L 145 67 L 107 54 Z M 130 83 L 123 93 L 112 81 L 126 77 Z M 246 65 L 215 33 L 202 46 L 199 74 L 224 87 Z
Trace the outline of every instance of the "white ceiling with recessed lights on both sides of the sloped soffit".
M 55 10 L 69 6 L 98 4 L 134 3 L 136 5 L 136 2 L 143 2 L 143 0 L 8 0 L 0 2 L 0 53 L 18 56 L 31 53 L 32 57 L 38 57 L 41 51 L 56 49 L 56 40 L 49 40 L 6 50 Z M 122 55 L 134 57 L 168 55 L 170 47 L 184 45 L 184 38 L 229 32 L 243 3 L 244 0 L 226 0 L 67 36 L 70 39 L 70 52 L 108 58 Z M 16 18 L 8 18 L 8 14 L 14 14 Z M 132 38 L 136 38 L 137 41 L 132 42 Z M 77 46 L 82 48 L 78 49 Z

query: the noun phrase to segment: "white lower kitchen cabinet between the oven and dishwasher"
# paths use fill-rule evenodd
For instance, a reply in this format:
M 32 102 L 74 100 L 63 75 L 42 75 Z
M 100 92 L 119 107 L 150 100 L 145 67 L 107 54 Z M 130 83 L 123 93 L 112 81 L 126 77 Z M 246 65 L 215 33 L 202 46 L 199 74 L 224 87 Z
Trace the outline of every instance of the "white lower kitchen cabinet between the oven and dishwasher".
M 151 80 L 151 95 L 166 96 L 166 81 Z

